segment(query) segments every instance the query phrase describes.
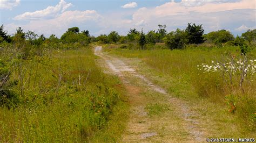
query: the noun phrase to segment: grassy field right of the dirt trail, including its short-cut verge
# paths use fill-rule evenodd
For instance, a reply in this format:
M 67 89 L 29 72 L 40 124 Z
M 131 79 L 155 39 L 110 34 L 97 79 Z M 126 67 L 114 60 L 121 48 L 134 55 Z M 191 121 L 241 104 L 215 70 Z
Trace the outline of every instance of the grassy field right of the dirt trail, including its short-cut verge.
M 105 51 L 131 58 L 133 62 L 130 64 L 139 67 L 137 70 L 140 73 L 164 87 L 172 96 L 190 103 L 192 109 L 199 113 L 197 118 L 203 123 L 202 127 L 206 128 L 208 137 L 255 137 L 255 74 L 248 74 L 241 88 L 241 73 L 232 76 L 231 84 L 227 73 L 206 72 L 197 66 L 201 63 L 211 65 L 212 61 L 230 62 L 231 56 L 238 61 L 242 59 L 238 47 L 196 47 L 173 51 L 118 47 L 105 45 Z M 247 54 L 247 61 L 255 57 L 254 48 L 254 51 Z

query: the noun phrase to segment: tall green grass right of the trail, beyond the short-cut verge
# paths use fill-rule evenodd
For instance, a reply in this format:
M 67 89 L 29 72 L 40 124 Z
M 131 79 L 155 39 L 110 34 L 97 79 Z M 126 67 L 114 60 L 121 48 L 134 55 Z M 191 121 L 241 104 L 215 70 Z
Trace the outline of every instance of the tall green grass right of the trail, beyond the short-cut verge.
M 107 49 L 110 53 L 127 58 L 142 59 L 146 65 L 164 76 L 169 81 L 156 81 L 163 85 L 174 96 L 188 101 L 199 102 L 201 99 L 216 104 L 225 111 L 230 111 L 237 116 L 237 121 L 248 131 L 255 131 L 256 107 L 256 80 L 255 74 L 250 80 L 244 81 L 243 90 L 239 86 L 240 78 L 233 77 L 230 84 L 223 73 L 207 73 L 198 70 L 201 63 L 210 64 L 212 61 L 227 61 L 228 56 L 240 59 L 238 47 L 198 47 L 183 50 L 153 49 L 153 50 L 127 50 Z M 248 53 L 248 59 L 256 58 L 256 51 Z M 165 79 L 165 80 L 166 80 Z M 205 102 L 207 104 L 207 102 Z M 224 106 L 224 104 L 226 104 Z M 222 111 L 222 110 L 221 110 Z M 220 111 L 219 111 L 220 112 Z M 219 113 L 217 111 L 217 113 Z M 225 117 L 224 117 L 225 118 Z

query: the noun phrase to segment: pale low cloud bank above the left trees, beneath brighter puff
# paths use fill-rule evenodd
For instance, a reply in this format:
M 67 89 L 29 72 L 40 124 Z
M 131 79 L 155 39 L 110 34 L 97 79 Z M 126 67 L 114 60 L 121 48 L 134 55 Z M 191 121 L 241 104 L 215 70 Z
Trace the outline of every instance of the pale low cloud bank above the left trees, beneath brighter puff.
M 46 36 L 56 34 L 60 37 L 68 28 L 73 26 L 78 26 L 81 30 L 83 30 L 83 26 L 97 26 L 100 18 L 101 16 L 95 10 L 65 11 L 56 18 L 31 20 L 23 25 L 11 23 L 5 25 L 5 28 L 9 33 L 15 33 L 17 27 L 22 27 L 24 31 L 35 31 L 37 34 L 45 34 Z

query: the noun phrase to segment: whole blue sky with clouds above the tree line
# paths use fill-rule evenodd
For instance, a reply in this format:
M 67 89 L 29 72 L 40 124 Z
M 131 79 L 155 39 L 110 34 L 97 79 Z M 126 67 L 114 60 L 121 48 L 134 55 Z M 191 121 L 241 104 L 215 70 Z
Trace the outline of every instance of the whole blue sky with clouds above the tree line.
M 0 0 L 0 24 L 9 34 L 17 27 L 48 37 L 60 37 L 77 26 L 91 35 L 130 28 L 167 31 L 184 29 L 187 23 L 203 24 L 205 33 L 228 30 L 240 35 L 256 28 L 255 0 Z

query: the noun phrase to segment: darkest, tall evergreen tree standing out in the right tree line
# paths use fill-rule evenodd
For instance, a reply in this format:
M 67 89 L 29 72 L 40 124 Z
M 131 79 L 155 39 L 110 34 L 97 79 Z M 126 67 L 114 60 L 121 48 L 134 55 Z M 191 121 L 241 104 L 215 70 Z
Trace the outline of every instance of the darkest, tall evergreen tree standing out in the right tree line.
M 201 44 L 205 41 L 203 37 L 204 29 L 202 25 L 191 25 L 191 23 L 188 23 L 185 31 L 187 32 L 188 42 L 190 44 Z

